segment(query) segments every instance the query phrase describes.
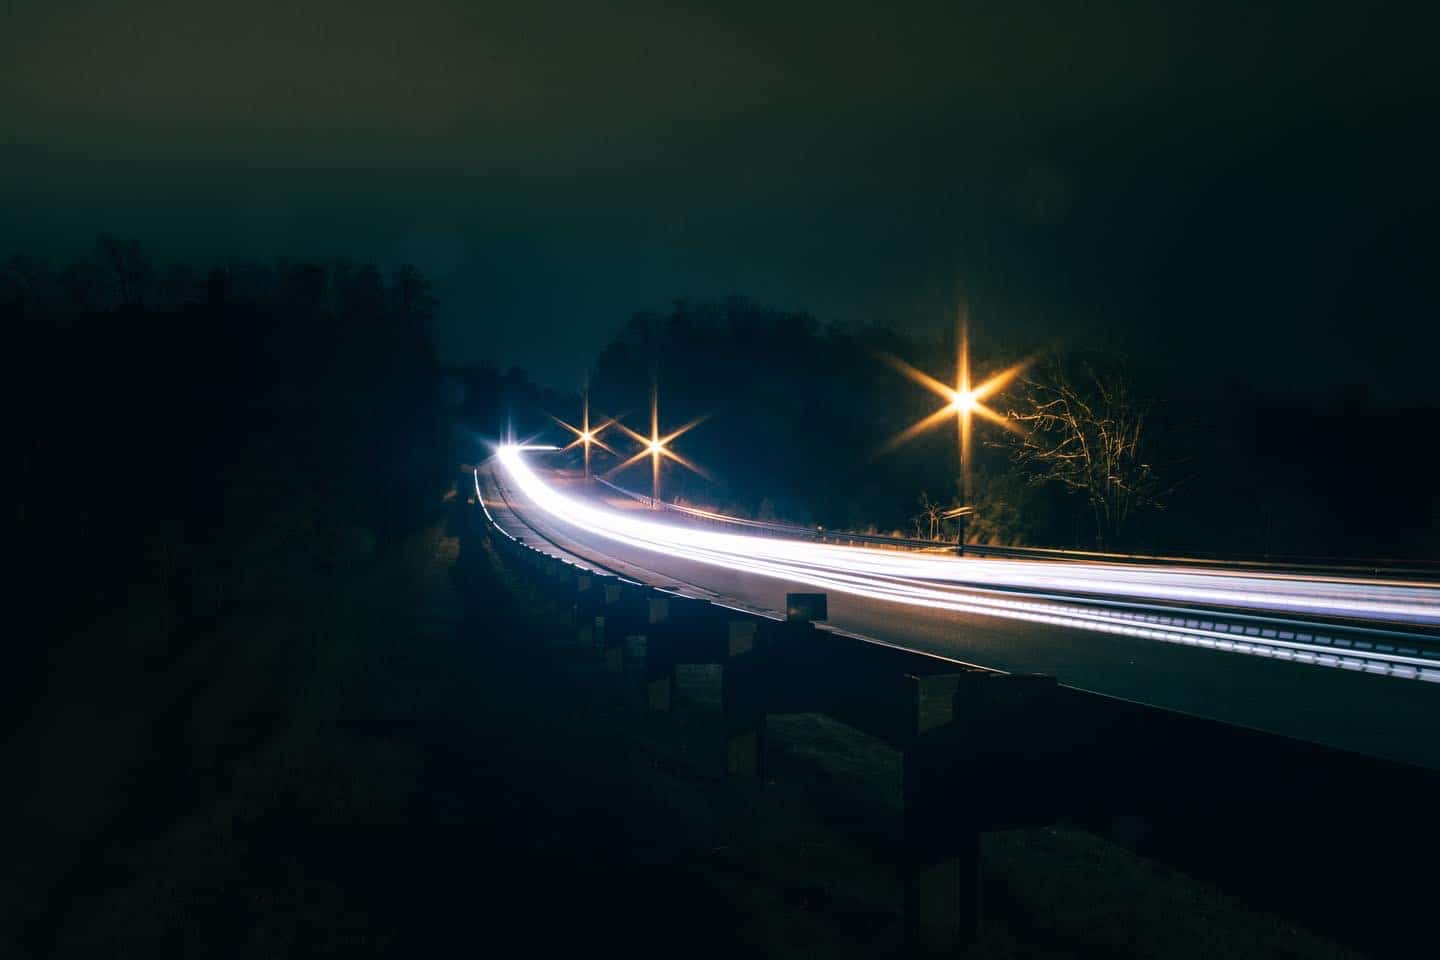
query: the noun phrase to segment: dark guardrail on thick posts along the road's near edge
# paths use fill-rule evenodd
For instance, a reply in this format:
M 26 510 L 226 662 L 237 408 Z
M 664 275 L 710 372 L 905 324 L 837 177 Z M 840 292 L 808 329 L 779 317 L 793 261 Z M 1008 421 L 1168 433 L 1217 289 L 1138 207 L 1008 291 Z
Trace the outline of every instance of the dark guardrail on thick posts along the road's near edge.
M 1440 864 L 1433 770 L 876 643 L 816 623 L 809 599 L 769 617 L 580 567 L 539 538 L 492 543 L 638 708 L 668 712 L 678 668 L 719 666 L 714 750 L 732 777 L 773 776 L 780 714 L 825 714 L 900 751 L 893 862 L 912 956 L 978 936 L 981 835 L 1061 822 L 1368 950 L 1428 936 L 1431 887 L 1416 878 Z

